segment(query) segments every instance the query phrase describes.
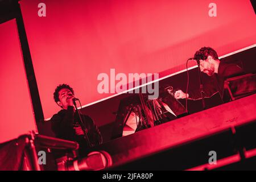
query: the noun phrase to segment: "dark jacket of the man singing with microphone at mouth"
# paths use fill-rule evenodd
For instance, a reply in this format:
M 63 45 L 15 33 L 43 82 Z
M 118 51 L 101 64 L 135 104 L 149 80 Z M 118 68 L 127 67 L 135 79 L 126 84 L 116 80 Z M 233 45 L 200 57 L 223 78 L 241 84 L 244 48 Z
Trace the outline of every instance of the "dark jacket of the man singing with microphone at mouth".
M 102 143 L 100 130 L 88 115 L 81 114 L 82 123 L 88 133 L 89 142 L 92 146 Z M 62 109 L 51 118 L 52 131 L 57 138 L 71 140 L 79 143 L 79 151 L 84 152 L 89 144 L 83 135 L 76 135 L 73 127 L 79 125 L 79 115 L 73 111 L 73 106 L 68 106 L 67 110 Z

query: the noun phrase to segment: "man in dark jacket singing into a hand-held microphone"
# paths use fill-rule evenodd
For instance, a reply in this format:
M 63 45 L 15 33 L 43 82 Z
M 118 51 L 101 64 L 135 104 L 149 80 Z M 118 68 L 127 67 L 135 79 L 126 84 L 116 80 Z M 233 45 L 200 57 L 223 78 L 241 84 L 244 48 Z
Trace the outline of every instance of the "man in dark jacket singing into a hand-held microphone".
M 83 153 L 86 148 L 102 143 L 102 137 L 98 127 L 94 124 L 92 118 L 81 114 L 82 125 L 85 132 L 79 124 L 79 114 L 74 107 L 74 90 L 67 84 L 57 86 L 53 93 L 54 101 L 62 110 L 54 114 L 51 118 L 52 131 L 57 138 L 72 140 L 79 143 L 79 152 Z M 86 135 L 88 140 L 86 140 Z

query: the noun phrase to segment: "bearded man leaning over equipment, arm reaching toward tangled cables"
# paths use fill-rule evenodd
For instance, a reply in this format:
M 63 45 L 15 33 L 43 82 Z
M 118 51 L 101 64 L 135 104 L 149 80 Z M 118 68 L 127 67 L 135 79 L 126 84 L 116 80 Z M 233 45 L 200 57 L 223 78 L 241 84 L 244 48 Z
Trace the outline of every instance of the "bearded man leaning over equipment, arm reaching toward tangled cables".
M 217 52 L 210 47 L 200 48 L 199 51 L 196 51 L 194 59 L 200 61 L 200 71 L 210 77 L 208 82 L 203 82 L 204 97 L 212 97 L 213 94 L 219 92 L 223 99 L 224 80 L 244 73 L 237 64 L 222 63 L 218 59 Z M 186 94 L 182 90 L 177 90 L 175 98 L 186 98 Z M 187 93 L 187 98 L 191 100 L 201 99 L 200 88 Z

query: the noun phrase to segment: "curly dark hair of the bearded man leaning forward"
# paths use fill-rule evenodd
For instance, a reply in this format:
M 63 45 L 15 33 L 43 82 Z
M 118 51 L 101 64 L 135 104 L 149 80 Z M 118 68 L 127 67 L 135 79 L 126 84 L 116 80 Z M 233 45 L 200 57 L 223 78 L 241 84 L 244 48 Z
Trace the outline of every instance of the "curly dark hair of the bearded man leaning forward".
M 196 51 L 194 57 L 195 60 L 206 60 L 208 56 L 212 56 L 213 59 L 217 60 L 218 55 L 217 52 L 211 47 L 202 47 L 199 51 Z

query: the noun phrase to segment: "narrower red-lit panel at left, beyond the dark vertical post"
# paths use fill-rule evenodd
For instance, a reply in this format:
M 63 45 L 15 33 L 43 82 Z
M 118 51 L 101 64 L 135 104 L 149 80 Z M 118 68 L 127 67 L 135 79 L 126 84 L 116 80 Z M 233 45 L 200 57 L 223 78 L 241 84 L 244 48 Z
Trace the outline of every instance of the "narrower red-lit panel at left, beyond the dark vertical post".
M 0 24 L 0 143 L 36 130 L 15 20 Z

